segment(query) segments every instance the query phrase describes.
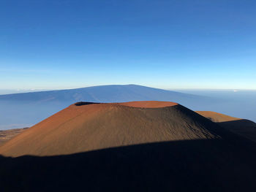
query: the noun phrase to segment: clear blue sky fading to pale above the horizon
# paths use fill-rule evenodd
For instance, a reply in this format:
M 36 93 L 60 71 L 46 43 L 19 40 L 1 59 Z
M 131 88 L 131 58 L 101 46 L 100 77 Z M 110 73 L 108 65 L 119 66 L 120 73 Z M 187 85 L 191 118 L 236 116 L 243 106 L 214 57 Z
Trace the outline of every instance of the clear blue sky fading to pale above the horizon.
M 0 1 L 0 89 L 256 89 L 256 1 Z

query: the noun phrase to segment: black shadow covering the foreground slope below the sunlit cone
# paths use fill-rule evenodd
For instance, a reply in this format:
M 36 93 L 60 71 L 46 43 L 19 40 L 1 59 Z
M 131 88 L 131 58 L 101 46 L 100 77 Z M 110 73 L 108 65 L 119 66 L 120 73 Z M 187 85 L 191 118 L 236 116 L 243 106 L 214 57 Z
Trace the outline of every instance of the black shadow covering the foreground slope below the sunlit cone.
M 203 139 L 0 157 L 1 190 L 255 191 L 255 150 L 241 144 Z

